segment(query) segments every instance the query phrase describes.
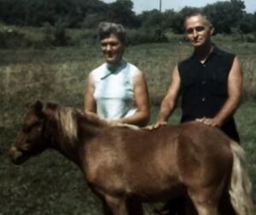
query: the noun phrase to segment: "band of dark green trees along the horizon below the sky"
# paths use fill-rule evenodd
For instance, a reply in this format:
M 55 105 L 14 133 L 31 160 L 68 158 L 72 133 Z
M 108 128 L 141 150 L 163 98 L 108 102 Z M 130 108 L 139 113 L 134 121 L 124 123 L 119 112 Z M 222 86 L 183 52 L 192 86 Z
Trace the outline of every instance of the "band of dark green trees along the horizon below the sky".
M 230 33 L 236 28 L 243 33 L 256 31 L 256 15 L 245 12 L 244 1 L 230 0 L 207 4 L 204 8 L 185 7 L 160 13 L 153 9 L 135 14 L 131 0 L 104 3 L 100 0 L 0 0 L 0 22 L 9 25 L 44 26 L 45 23 L 69 28 L 96 28 L 103 20 L 129 28 L 150 29 L 161 35 L 171 30 L 183 33 L 184 17 L 196 10 L 207 14 L 216 33 Z

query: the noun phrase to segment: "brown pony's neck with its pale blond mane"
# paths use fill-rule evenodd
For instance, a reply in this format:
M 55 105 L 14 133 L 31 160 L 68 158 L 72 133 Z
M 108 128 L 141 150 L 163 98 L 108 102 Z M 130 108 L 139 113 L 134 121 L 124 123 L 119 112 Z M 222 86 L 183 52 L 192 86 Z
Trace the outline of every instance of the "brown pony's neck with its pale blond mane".
M 76 163 L 79 163 L 84 144 L 101 133 L 103 127 L 108 127 L 108 122 L 97 116 L 73 108 L 60 108 L 51 118 L 55 121 L 49 123 L 51 148 Z

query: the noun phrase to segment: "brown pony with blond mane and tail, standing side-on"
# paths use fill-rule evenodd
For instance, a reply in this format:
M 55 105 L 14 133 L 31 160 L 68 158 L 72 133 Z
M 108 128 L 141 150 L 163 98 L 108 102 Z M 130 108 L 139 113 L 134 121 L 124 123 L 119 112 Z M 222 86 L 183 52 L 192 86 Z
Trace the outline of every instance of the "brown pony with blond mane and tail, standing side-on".
M 141 215 L 141 202 L 183 194 L 200 215 L 217 215 L 224 196 L 237 215 L 253 215 L 243 150 L 200 122 L 153 131 L 113 127 L 82 110 L 38 101 L 27 110 L 9 156 L 20 164 L 47 148 L 82 169 L 105 214 Z

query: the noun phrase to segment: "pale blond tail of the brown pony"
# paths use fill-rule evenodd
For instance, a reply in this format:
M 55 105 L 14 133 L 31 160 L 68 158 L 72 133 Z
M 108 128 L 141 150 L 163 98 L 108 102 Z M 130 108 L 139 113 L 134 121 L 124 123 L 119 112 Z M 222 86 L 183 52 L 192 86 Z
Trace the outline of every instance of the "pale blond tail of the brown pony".
M 247 174 L 244 150 L 236 142 L 230 144 L 233 167 L 230 180 L 230 201 L 237 215 L 253 215 L 252 184 Z

